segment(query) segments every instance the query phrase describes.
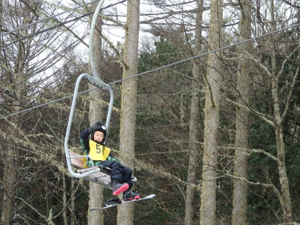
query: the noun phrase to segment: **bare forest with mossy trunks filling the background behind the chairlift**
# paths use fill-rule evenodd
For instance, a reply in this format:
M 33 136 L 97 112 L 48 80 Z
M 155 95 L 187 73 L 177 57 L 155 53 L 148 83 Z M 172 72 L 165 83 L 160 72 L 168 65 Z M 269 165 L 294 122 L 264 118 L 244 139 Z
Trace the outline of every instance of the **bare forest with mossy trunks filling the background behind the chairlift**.
M 83 3 L 0 1 L 1 224 L 300 223 L 299 27 L 114 83 L 107 146 L 134 169 L 142 197 L 156 197 L 88 211 L 112 195 L 68 173 L 71 98 L 18 112 L 72 95 L 91 74 L 85 14 L 97 3 L 7 33 Z M 110 83 L 298 24 L 299 3 L 109 6 L 96 26 L 98 73 Z M 106 121 L 107 101 L 100 90 L 78 96 L 71 150 L 80 153 L 83 129 Z

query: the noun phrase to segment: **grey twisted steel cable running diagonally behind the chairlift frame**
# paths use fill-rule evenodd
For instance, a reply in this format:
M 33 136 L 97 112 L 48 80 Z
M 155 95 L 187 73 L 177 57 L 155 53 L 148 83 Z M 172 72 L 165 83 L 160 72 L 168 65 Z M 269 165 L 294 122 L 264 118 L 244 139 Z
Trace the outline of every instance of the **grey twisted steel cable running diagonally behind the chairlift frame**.
M 272 35 L 272 34 L 276 34 L 276 33 L 279 33 L 281 31 L 285 31 L 285 30 L 288 30 L 288 29 L 293 29 L 295 27 L 298 27 L 300 26 L 300 23 L 297 23 L 295 25 L 292 25 L 292 26 L 288 26 L 286 28 L 282 28 L 282 29 L 279 29 L 279 30 L 276 30 L 276 31 L 273 31 L 273 32 L 270 32 L 270 33 L 267 33 L 267 34 L 264 34 L 264 35 L 259 35 L 257 37 L 254 37 L 254 38 L 250 38 L 250 39 L 247 39 L 247 40 L 244 40 L 244 41 L 240 41 L 238 43 L 235 43 L 235 44 L 231 44 L 231 45 L 228 45 L 228 46 L 225 46 L 225 47 L 222 47 L 222 48 L 219 48 L 219 49 L 215 49 L 215 50 L 212 50 L 212 51 L 209 51 L 209 52 L 205 52 L 205 53 L 202 53 L 200 55 L 196 55 L 196 56 L 193 56 L 193 57 L 190 57 L 190 58 L 186 58 L 186 59 L 183 59 L 181 61 L 177 61 L 177 62 L 174 62 L 174 63 L 171 63 L 171 64 L 168 64 L 168 65 L 165 65 L 165 66 L 162 66 L 162 67 L 158 67 L 158 68 L 155 68 L 155 69 L 152 69 L 152 70 L 149 70 L 149 71 L 146 71 L 146 72 L 143 72 L 143 73 L 139 73 L 137 75 L 134 75 L 134 76 L 130 76 L 130 77 L 127 77 L 127 78 L 124 78 L 124 79 L 121 79 L 121 80 L 117 80 L 117 81 L 114 81 L 114 82 L 111 82 L 109 83 L 108 85 L 112 85 L 112 84 L 115 84 L 115 83 L 119 83 L 119 82 L 122 82 L 122 81 L 125 81 L 125 80 L 128 80 L 128 79 L 131 79 L 131 78 L 134 78 L 134 77 L 138 77 L 138 76 L 142 76 L 144 74 L 147 74 L 147 73 L 153 73 L 155 71 L 158 71 L 158 70 L 162 70 L 164 68 L 167 68 L 167 67 L 171 67 L 171 66 L 174 66 L 174 65 L 177 65 L 177 64 L 181 64 L 181 63 L 184 63 L 186 61 L 190 61 L 192 59 L 195 59 L 195 58 L 199 58 L 199 57 L 202 57 L 202 56 L 205 56 L 205 55 L 208 55 L 208 54 L 211 54 L 211 53 L 214 53 L 214 52 L 218 52 L 218 51 L 221 51 L 221 50 L 225 50 L 225 49 L 228 49 L 228 48 L 231 48 L 231 47 L 234 47 L 234 46 L 237 46 L 239 44 L 243 44 L 243 43 L 246 43 L 246 42 L 249 42 L 249 41 L 254 41 L 256 39 L 259 39 L 259 38 L 264 38 L 268 35 Z M 80 94 L 84 94 L 84 93 L 87 93 L 89 91 L 93 91 L 97 88 L 92 88 L 92 89 L 89 89 L 89 90 L 86 90 L 86 91 L 82 91 L 80 93 L 78 93 L 77 95 L 80 95 Z M 17 112 L 17 113 L 13 113 L 13 114 L 10 114 L 10 115 L 7 115 L 7 116 L 3 116 L 1 117 L 0 119 L 5 119 L 5 118 L 8 118 L 10 116 L 14 116 L 14 115 L 17 115 L 17 114 L 20 114 L 20 113 L 25 113 L 25 112 L 28 112 L 30 110 L 33 110 L 33 109 L 37 109 L 37 108 L 41 108 L 41 107 L 44 107 L 46 105 L 49 105 L 49 104 L 52 104 L 52 103 L 55 103 L 55 102 L 58 102 L 58 101 L 62 101 L 64 99 L 67 99 L 67 98 L 72 98 L 73 95 L 70 95 L 70 96 L 67 96 L 65 98 L 61 98 L 61 99 L 57 99 L 55 101 L 51 101 L 51 102 L 48 102 L 48 103 L 45 103 L 45 104 L 42 104 L 42 105 L 39 105 L 39 106 L 36 106 L 36 107 L 32 107 L 30 109 L 26 109 L 26 110 L 22 110 L 20 112 Z

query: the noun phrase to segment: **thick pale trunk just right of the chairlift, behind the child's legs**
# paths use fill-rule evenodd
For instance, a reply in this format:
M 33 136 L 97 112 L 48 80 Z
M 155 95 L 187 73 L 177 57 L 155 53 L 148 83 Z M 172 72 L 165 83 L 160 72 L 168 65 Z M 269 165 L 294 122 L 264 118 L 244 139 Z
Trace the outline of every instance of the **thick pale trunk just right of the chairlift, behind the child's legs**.
M 137 74 L 138 44 L 140 25 L 140 1 L 127 2 L 127 22 L 125 28 L 123 78 Z M 121 163 L 134 170 L 135 118 L 137 113 L 137 80 L 122 82 L 120 151 L 124 155 Z M 133 224 L 133 204 L 118 206 L 118 225 Z

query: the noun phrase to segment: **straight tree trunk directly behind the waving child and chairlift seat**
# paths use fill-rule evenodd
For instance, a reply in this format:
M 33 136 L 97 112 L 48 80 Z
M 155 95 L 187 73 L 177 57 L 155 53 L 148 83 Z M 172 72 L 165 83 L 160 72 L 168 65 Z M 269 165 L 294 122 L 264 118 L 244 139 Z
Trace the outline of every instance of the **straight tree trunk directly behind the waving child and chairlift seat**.
M 102 40 L 98 33 L 101 32 L 102 28 L 102 19 L 98 16 L 96 22 L 96 29 L 94 34 L 94 58 L 95 64 L 97 67 L 97 73 L 100 79 L 101 76 L 101 61 L 102 61 Z M 91 87 L 92 88 L 92 87 Z M 91 101 L 90 101 L 90 111 L 89 111 L 89 121 L 90 125 L 93 125 L 95 122 L 102 122 L 103 117 L 103 105 L 97 101 L 101 100 L 103 95 L 102 89 L 98 88 L 91 93 Z M 105 124 L 105 123 L 104 123 Z M 103 205 L 103 186 L 99 184 L 95 184 L 93 182 L 90 183 L 90 190 L 89 190 L 89 207 L 90 208 L 97 208 Z M 88 211 L 88 225 L 102 225 L 104 222 L 104 214 L 102 210 L 98 211 Z

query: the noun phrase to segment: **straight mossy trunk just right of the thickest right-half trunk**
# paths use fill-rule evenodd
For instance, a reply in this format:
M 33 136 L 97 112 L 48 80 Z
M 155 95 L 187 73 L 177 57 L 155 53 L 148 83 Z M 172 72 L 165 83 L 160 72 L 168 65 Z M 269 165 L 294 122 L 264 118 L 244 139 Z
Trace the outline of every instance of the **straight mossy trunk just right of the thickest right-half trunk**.
M 240 1 L 241 20 L 239 23 L 239 41 L 249 39 L 251 36 L 251 5 L 251 0 Z M 240 55 L 248 55 L 251 43 L 247 42 L 238 47 Z M 244 107 L 236 108 L 234 175 L 244 179 L 247 179 L 248 165 L 248 158 L 245 153 L 246 149 L 248 149 L 249 113 L 245 110 L 245 107 L 249 95 L 249 78 L 249 60 L 247 58 L 240 58 L 238 60 L 237 72 L 237 91 L 239 92 L 237 103 Z M 234 180 L 233 186 L 232 224 L 243 225 L 247 221 L 247 184 L 241 180 Z

